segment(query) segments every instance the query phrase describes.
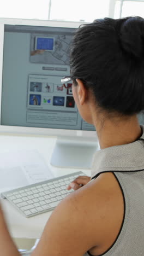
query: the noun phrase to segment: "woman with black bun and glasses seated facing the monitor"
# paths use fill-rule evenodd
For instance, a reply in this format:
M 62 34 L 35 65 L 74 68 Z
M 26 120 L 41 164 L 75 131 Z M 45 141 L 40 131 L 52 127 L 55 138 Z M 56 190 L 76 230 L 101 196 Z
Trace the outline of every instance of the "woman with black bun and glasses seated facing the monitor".
M 78 177 L 53 211 L 32 256 L 144 255 L 144 20 L 101 19 L 76 32 L 70 53 L 73 96 L 100 148 L 92 181 Z M 81 187 L 80 184 L 84 186 Z M 1 211 L 3 256 L 19 253 Z

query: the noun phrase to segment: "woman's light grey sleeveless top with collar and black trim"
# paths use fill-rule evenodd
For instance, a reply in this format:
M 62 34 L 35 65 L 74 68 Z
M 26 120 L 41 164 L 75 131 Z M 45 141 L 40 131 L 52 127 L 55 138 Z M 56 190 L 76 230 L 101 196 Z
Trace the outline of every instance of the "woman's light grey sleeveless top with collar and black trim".
M 104 256 L 144 255 L 144 126 L 135 142 L 105 148 L 94 154 L 92 179 L 113 172 L 124 198 L 121 230 Z M 92 182 L 92 181 L 91 181 Z M 111 231 L 110 231 L 111 232 Z M 84 256 L 92 255 L 87 252 Z

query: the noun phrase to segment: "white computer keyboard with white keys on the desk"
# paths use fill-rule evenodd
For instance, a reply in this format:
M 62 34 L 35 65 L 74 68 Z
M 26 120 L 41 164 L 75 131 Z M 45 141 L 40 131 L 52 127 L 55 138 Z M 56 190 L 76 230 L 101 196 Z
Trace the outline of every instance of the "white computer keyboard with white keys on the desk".
M 9 190 L 1 193 L 1 196 L 8 199 L 25 217 L 33 217 L 52 211 L 65 196 L 74 191 L 73 189 L 67 190 L 67 187 L 80 175 L 85 174 L 82 172 L 67 174 L 19 189 Z

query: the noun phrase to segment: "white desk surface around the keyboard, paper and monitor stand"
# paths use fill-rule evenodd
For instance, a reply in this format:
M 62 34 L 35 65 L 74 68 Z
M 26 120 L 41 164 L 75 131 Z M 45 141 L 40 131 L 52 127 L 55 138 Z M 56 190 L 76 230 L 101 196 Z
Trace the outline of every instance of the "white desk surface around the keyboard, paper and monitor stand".
M 1 135 L 0 153 L 21 149 L 37 149 L 39 153 L 43 155 L 47 162 L 47 166 L 50 167 L 55 177 L 75 171 L 83 171 L 86 175 L 91 176 L 90 170 L 76 170 L 72 168 L 57 168 L 51 166 L 49 161 L 55 142 L 55 137 Z M 51 212 L 43 213 L 32 218 L 25 218 L 17 212 L 6 199 L 2 200 L 1 203 L 9 226 L 9 231 L 13 237 L 39 238 L 41 236 Z

